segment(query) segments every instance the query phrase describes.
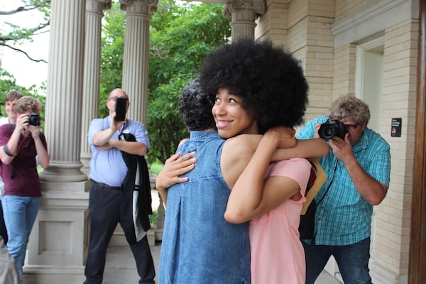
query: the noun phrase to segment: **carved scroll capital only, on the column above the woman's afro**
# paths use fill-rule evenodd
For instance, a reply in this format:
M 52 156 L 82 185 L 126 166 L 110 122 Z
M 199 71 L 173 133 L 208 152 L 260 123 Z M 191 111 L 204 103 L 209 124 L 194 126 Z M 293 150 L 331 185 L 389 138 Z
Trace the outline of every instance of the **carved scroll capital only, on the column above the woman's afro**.
M 239 14 L 240 20 L 254 21 L 259 16 L 266 13 L 265 0 L 232 0 L 226 2 L 223 10 L 225 18 L 235 18 L 235 13 Z M 234 17 L 233 17 L 234 14 Z

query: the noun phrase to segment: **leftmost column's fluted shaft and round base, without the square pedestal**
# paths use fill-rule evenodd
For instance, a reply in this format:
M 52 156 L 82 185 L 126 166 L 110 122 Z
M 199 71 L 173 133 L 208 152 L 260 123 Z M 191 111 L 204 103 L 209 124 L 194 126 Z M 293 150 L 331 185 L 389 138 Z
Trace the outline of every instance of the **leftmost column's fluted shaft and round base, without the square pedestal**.
M 46 182 L 87 180 L 80 162 L 85 1 L 52 2 L 45 133 L 50 167 Z

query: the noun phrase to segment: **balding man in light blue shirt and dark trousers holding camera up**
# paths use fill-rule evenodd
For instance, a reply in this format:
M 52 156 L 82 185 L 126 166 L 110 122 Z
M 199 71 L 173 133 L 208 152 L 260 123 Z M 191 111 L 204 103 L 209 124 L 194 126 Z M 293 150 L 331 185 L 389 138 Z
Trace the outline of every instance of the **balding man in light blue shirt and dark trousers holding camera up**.
M 116 111 L 116 104 L 123 98 L 126 99 L 124 115 Z M 107 100 L 109 116 L 94 119 L 89 126 L 87 136 L 92 149 L 90 160 L 92 182 L 89 193 L 89 248 L 84 271 L 85 284 L 102 283 L 109 240 L 117 224 L 120 222 L 123 227 L 123 222 L 126 221 L 121 216 L 121 207 L 123 202 L 126 202 L 123 184 L 130 168 L 126 165 L 121 152 L 143 158 L 150 147 L 148 132 L 143 124 L 126 119 L 129 105 L 126 92 L 114 89 Z M 124 120 L 116 120 L 118 116 L 123 116 Z M 133 134 L 136 141 L 122 140 L 119 138 L 121 133 Z M 124 233 L 129 242 L 126 230 Z M 144 233 L 140 240 L 129 242 L 129 245 L 141 278 L 139 283 L 151 284 L 154 283 L 155 268 L 146 232 Z

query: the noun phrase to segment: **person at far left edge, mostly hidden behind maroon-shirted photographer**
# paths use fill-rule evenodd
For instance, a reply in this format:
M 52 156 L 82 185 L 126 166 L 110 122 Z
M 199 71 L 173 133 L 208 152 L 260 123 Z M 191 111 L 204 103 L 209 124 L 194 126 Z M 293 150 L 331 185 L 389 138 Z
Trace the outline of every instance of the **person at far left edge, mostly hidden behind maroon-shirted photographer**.
M 15 105 L 18 99 L 23 97 L 23 94 L 18 91 L 11 91 L 6 94 L 4 99 L 4 109 L 6 110 L 7 116 L 0 118 L 0 126 L 3 124 L 16 124 L 16 111 Z M 4 182 L 0 178 L 0 236 L 4 239 L 4 244 L 7 244 L 8 236 L 6 230 L 6 224 L 4 224 L 3 209 L 1 209 L 1 197 L 4 192 Z

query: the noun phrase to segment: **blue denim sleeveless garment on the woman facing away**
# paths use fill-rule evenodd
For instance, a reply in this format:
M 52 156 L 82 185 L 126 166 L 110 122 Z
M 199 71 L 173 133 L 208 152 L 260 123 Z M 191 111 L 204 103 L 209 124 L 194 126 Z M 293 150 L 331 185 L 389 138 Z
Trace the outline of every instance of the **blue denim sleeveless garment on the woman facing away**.
M 222 178 L 224 140 L 216 131 L 191 131 L 178 151 L 197 151 L 190 179 L 168 190 L 160 284 L 249 284 L 249 223 L 224 219 L 229 187 Z

